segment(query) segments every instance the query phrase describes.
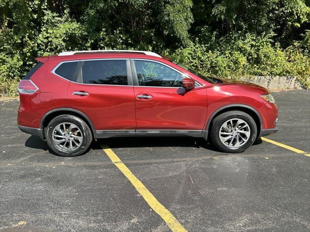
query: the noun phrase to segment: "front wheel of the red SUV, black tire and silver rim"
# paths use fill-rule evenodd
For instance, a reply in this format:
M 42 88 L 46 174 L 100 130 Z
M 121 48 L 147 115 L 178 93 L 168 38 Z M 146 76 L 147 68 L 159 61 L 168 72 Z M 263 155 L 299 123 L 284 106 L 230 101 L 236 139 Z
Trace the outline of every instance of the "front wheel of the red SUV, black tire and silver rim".
M 212 121 L 211 140 L 221 151 L 239 153 L 255 141 L 257 127 L 254 119 L 242 111 L 229 111 Z

